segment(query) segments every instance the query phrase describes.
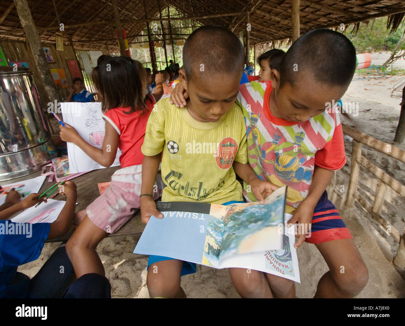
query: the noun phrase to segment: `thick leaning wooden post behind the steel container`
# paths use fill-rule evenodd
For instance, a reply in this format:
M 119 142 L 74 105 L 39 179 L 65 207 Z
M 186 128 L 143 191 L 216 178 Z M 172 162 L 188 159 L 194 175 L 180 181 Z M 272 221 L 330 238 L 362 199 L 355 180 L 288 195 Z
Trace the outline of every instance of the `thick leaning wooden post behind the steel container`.
M 20 17 L 21 25 L 30 44 L 32 56 L 40 74 L 39 78 L 43 81 L 45 93 L 48 95 L 48 102 L 54 100 L 60 101 L 59 94 L 56 91 L 55 83 L 51 72 L 49 71 L 48 63 L 45 58 L 45 53 L 42 48 L 41 39 L 38 31 L 36 30 L 34 20 L 32 19 L 30 7 L 27 0 L 15 0 L 15 7 L 17 8 L 18 16 Z M 45 103 L 44 103 L 45 104 Z

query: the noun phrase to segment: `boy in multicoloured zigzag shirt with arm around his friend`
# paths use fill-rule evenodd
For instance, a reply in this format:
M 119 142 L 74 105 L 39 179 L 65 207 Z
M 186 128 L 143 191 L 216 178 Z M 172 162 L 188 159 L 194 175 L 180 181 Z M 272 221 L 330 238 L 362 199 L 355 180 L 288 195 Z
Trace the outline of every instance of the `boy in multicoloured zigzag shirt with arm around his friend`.
M 279 71 L 272 70 L 271 82 L 243 84 L 237 99 L 245 116 L 249 164 L 260 179 L 289 186 L 286 212 L 293 217 L 288 223 L 298 222 L 300 231 L 295 247 L 315 244 L 328 264 L 315 298 L 352 298 L 368 280 L 367 266 L 325 190 L 334 170 L 346 162 L 339 114 L 326 108 L 344 95 L 355 67 L 350 40 L 315 29 L 292 44 Z M 180 107 L 182 93 L 179 88 L 171 97 Z M 244 195 L 254 201 L 250 193 Z M 290 280 L 229 270 L 242 297 L 295 297 Z

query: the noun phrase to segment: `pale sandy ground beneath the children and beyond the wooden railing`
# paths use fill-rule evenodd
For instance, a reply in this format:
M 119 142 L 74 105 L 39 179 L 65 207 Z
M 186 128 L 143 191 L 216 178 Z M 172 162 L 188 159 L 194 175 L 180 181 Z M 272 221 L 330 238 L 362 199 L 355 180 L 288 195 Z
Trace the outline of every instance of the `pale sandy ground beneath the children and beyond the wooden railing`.
M 379 80 L 359 80 L 350 85 L 343 101 L 358 102 L 359 114 L 354 122 L 358 130 L 373 137 L 392 143 L 400 112 L 400 99 L 391 98 L 391 88 L 404 76 L 393 76 Z M 398 93 L 400 95 L 400 93 Z M 344 206 L 345 193 L 350 175 L 351 143 L 345 142 L 347 164 L 337 173 L 335 195 L 331 196 L 343 220 L 349 227 L 360 254 L 369 269 L 369 282 L 357 298 L 403 298 L 405 281 L 396 271 L 391 261 L 396 252 L 396 244 L 367 212 L 356 203 L 353 208 Z M 399 145 L 405 149 L 405 144 Z M 363 146 L 364 148 L 364 146 Z M 364 149 L 363 155 L 384 168 L 390 175 L 405 184 L 405 164 L 388 158 L 372 149 Z M 364 169 L 361 170 L 360 187 L 363 195 L 373 201 L 376 179 Z M 102 182 L 102 181 L 100 181 Z M 405 200 L 391 189 L 386 193 L 382 215 L 401 233 L 405 227 Z M 113 298 L 148 298 L 146 287 L 147 257 L 132 254 L 139 237 L 116 236 L 104 239 L 97 251 L 104 264 L 106 276 L 111 282 Z M 45 244 L 39 259 L 19 267 L 19 271 L 32 277 L 40 269 L 58 243 Z M 311 298 L 315 294 L 318 280 L 328 271 L 328 267 L 312 244 L 304 243 L 298 249 L 301 284 L 296 284 L 299 298 Z M 199 266 L 197 273 L 183 276 L 181 285 L 188 297 L 192 298 L 237 298 L 226 269 L 213 269 Z

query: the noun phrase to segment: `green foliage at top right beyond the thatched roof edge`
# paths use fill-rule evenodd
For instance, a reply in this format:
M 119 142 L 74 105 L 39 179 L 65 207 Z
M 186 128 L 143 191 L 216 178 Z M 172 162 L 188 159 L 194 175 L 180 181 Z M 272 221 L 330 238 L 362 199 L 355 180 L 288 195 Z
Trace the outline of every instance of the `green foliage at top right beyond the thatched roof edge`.
M 355 25 L 347 27 L 345 35 L 349 38 L 356 53 L 377 52 L 377 51 L 392 51 L 401 38 L 404 32 L 404 26 L 400 26 L 395 32 L 390 34 L 387 30 L 388 17 L 376 18 L 373 21 L 360 23 L 360 28 L 357 34 L 352 33 Z M 401 48 L 405 48 L 405 43 Z

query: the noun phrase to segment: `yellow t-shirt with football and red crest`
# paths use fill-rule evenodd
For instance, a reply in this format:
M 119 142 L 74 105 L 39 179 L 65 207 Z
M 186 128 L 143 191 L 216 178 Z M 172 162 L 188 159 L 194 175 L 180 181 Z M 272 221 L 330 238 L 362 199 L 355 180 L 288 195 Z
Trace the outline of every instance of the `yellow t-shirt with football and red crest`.
M 164 202 L 242 201 L 233 162 L 247 163 L 246 128 L 241 109 L 233 105 L 217 122 L 198 122 L 187 107 L 170 99 L 153 107 L 146 126 L 142 153 L 163 151 Z

